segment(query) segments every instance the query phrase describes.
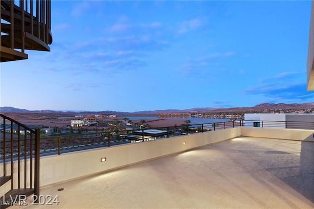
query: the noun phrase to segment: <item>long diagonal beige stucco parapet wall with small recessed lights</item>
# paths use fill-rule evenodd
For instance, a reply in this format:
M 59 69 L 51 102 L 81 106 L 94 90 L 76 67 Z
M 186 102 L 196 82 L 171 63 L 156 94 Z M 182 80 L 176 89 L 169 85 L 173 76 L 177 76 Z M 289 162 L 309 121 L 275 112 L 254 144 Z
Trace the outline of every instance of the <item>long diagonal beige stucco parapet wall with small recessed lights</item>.
M 240 127 L 41 157 L 40 185 L 74 180 L 238 136 Z M 105 162 L 101 162 L 102 157 L 106 157 Z

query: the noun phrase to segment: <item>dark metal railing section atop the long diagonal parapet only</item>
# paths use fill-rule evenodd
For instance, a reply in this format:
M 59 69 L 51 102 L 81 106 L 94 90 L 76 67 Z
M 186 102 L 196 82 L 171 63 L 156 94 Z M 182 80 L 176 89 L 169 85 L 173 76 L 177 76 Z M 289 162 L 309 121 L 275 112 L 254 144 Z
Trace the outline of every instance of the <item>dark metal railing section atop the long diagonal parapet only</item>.
M 205 131 L 217 131 L 240 126 L 240 121 L 226 121 L 205 124 L 187 124 L 173 127 L 141 128 L 134 130 L 116 131 L 90 131 L 89 133 L 54 135 L 41 137 L 40 155 L 54 155 L 79 150 L 114 145 L 127 144 L 135 141 L 147 141 L 152 139 L 165 139 L 179 135 L 195 134 Z M 146 131 L 151 130 L 149 133 Z M 160 133 L 160 131 L 163 131 Z M 138 138 L 127 139 L 127 135 L 137 135 Z

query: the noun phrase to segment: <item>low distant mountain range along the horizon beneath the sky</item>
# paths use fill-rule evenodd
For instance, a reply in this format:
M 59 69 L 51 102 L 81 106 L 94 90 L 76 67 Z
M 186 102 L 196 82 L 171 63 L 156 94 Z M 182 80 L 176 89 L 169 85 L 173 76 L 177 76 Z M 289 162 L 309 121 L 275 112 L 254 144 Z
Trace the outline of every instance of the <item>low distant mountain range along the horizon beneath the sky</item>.
M 121 111 L 55 111 L 55 110 L 27 110 L 14 108 L 11 106 L 0 107 L 0 112 L 21 112 L 21 113 L 83 113 L 83 114 L 160 114 L 160 113 L 180 113 L 180 112 L 211 112 L 211 111 L 221 111 L 221 112 L 243 112 L 243 111 L 261 111 L 266 109 L 314 109 L 314 103 L 302 103 L 302 104 L 285 104 L 285 103 L 262 103 L 253 107 L 231 107 L 231 108 L 213 108 L 213 107 L 196 107 L 190 109 L 164 109 L 164 110 L 149 110 L 149 111 L 136 111 L 136 112 L 121 112 Z

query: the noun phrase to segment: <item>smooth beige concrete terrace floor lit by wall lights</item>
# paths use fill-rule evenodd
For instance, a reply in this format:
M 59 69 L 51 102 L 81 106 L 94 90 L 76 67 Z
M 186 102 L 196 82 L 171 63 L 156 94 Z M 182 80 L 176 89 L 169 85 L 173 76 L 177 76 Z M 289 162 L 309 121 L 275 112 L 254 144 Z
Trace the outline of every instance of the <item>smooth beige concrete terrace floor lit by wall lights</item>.
M 237 137 L 41 189 L 59 205 L 13 208 L 310 209 L 313 185 L 313 142 Z

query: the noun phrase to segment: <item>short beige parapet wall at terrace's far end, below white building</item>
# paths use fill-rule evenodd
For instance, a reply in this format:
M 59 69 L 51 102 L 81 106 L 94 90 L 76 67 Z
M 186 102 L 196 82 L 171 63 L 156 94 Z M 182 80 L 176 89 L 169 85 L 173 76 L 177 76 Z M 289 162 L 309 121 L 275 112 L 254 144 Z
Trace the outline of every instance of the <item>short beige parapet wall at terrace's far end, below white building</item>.
M 273 129 L 273 128 L 253 128 L 241 127 L 242 136 L 287 139 L 297 141 L 314 141 L 313 130 L 304 129 Z

